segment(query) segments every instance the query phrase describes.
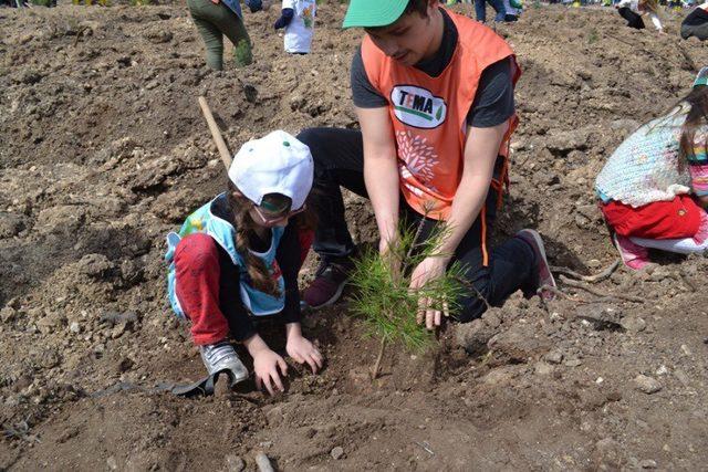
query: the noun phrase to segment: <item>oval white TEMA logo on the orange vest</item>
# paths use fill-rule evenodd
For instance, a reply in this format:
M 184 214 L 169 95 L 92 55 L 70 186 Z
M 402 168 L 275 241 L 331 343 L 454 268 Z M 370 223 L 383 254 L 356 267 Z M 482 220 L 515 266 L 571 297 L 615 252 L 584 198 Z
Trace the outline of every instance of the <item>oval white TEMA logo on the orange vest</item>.
M 396 118 L 416 128 L 437 128 L 447 115 L 442 98 L 414 85 L 396 85 L 391 92 L 391 103 Z

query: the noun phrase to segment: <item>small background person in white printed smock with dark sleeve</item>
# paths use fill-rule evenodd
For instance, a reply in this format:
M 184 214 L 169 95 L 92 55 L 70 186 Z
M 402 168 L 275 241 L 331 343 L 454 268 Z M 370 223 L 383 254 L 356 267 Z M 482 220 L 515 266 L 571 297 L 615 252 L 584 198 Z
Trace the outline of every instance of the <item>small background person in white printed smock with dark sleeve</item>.
M 283 8 L 274 28 L 275 30 L 285 29 L 283 38 L 285 52 L 310 53 L 316 9 L 315 0 L 283 0 Z

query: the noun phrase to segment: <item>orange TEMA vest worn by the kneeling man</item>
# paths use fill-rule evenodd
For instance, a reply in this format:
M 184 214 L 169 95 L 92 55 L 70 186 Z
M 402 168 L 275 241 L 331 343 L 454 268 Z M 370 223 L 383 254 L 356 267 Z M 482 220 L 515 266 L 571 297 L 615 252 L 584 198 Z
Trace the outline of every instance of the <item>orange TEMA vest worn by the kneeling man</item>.
M 449 217 L 462 177 L 467 114 L 482 71 L 511 57 L 514 84 L 521 75 L 513 51 L 497 33 L 467 17 L 448 14 L 458 41 L 450 63 L 437 77 L 387 57 L 368 36 L 362 43 L 366 75 L 388 99 L 400 190 L 414 210 L 437 220 Z M 500 155 L 507 155 L 517 123 L 516 115 L 509 119 Z

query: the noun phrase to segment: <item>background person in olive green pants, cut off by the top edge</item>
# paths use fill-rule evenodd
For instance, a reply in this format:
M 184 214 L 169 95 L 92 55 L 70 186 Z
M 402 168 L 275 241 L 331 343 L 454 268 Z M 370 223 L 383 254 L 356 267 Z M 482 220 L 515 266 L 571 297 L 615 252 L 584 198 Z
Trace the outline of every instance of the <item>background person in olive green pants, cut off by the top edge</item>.
M 251 12 L 262 10 L 261 0 L 244 0 Z M 233 61 L 237 67 L 253 61 L 251 39 L 243 25 L 243 13 L 239 0 L 187 0 L 191 19 L 207 49 L 207 65 L 223 70 L 223 36 L 233 44 Z

